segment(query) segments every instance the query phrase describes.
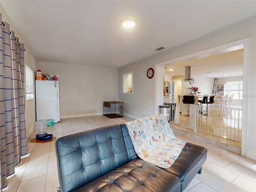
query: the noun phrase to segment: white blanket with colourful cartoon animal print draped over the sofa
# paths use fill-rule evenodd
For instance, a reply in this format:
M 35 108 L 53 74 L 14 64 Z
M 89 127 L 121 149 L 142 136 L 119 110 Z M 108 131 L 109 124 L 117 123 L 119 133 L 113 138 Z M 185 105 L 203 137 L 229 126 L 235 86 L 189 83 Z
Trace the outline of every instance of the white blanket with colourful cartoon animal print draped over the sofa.
M 138 156 L 161 168 L 169 168 L 186 141 L 178 140 L 163 114 L 125 123 Z

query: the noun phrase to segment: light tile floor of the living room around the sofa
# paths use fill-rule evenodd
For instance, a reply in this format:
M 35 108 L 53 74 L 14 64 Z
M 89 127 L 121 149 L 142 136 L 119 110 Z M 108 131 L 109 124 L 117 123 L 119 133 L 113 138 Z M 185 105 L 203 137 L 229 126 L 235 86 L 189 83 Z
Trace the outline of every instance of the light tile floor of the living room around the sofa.
M 90 130 L 101 126 L 120 124 L 131 118 L 109 119 L 103 115 L 62 119 L 48 127 L 48 134 L 59 138 L 68 134 Z M 8 178 L 4 192 L 56 192 L 59 186 L 54 141 L 32 143 L 36 132 L 28 138 L 28 155 Z M 184 192 L 255 192 L 256 160 L 216 146 L 176 134 L 176 137 L 208 149 L 202 174 L 197 174 Z

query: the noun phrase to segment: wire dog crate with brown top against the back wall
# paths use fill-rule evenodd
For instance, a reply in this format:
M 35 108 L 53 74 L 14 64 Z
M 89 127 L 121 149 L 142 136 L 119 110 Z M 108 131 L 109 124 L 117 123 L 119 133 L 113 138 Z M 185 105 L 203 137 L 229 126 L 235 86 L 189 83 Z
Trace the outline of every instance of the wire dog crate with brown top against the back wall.
M 124 102 L 104 101 L 103 115 L 108 118 L 118 118 L 124 116 Z

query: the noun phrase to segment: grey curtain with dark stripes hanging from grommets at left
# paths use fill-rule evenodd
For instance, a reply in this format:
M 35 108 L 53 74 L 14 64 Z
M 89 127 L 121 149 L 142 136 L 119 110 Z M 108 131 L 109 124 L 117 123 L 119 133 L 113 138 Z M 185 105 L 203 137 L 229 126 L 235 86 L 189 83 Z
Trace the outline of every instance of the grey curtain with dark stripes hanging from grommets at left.
M 25 127 L 24 44 L 0 13 L 0 175 L 1 188 L 21 156 L 28 153 Z

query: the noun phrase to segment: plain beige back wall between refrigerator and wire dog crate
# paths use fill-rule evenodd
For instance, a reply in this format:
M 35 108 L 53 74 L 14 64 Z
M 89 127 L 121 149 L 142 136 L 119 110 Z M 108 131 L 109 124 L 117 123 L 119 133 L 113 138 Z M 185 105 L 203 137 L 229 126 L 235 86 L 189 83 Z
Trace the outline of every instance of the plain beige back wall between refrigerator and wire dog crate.
M 116 68 L 42 61 L 37 64 L 44 74 L 60 76 L 60 118 L 100 115 L 103 101 L 118 98 Z

